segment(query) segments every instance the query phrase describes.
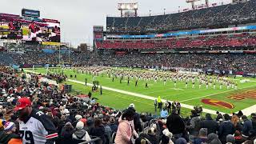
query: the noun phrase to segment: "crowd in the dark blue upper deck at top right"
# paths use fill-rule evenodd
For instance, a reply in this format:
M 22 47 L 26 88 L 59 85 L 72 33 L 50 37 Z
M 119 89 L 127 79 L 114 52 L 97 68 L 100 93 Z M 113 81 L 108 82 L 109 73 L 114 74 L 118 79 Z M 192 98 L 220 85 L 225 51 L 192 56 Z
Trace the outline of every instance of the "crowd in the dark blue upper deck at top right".
M 107 17 L 107 30 L 113 33 L 143 33 L 170 30 L 188 30 L 207 27 L 224 27 L 255 22 L 256 1 L 213 6 L 176 14 L 149 17 Z

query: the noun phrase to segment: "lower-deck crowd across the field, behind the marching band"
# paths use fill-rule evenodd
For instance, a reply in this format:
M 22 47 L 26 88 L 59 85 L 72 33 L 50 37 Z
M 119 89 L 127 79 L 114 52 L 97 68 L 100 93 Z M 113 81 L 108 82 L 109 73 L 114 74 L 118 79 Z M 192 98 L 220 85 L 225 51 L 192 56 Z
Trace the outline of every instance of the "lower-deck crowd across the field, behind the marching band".
M 29 54 L 3 54 L 6 58 L 11 56 L 13 63 L 3 63 L 3 65 L 58 65 L 58 53 L 44 54 L 42 52 Z M 86 58 L 81 58 L 86 55 Z M 1 56 L 1 55 L 0 55 Z M 78 57 L 77 57 L 78 56 Z M 71 60 L 68 61 L 68 55 L 63 56 L 63 62 L 70 63 L 73 66 L 136 66 L 142 68 L 168 67 L 172 70 L 233 70 L 234 72 L 244 72 L 249 74 L 256 73 L 256 55 L 255 54 L 70 54 Z M 30 60 L 33 59 L 33 60 Z M 53 59 L 56 61 L 54 62 Z

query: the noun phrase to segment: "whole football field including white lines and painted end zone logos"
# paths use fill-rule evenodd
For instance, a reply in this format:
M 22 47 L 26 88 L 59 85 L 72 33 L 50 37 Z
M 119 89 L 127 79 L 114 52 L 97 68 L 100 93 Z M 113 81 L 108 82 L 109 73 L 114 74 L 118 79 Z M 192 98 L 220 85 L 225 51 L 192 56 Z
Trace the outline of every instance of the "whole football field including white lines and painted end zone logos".
M 120 68 L 121 69 L 121 68 Z M 46 74 L 46 68 L 26 69 L 27 71 L 34 71 L 41 74 Z M 61 69 L 50 69 L 52 73 L 60 73 Z M 64 74 L 68 76 L 67 84 L 73 85 L 73 93 L 81 91 L 82 94 L 88 94 L 91 90 L 90 84 L 93 82 L 92 74 L 82 74 L 77 70 L 67 69 L 63 70 Z M 70 78 L 73 75 L 73 78 Z M 74 78 L 74 75 L 77 78 Z M 85 86 L 85 79 L 87 78 L 88 85 Z M 164 82 L 158 80 L 154 82 L 148 81 L 148 88 L 146 88 L 146 81 L 138 80 L 138 86 L 135 86 L 135 79 L 130 79 L 128 85 L 127 79 L 124 78 L 120 83 L 120 78 L 108 77 L 106 71 L 102 71 L 98 76 L 94 77 L 100 85 L 102 85 L 103 94 L 99 92 L 93 92 L 92 97 L 98 98 L 98 102 L 104 106 L 110 106 L 117 109 L 124 109 L 129 106 L 130 103 L 134 103 L 136 110 L 139 112 L 151 112 L 154 113 L 154 99 L 160 96 L 164 100 L 178 101 L 182 103 L 182 114 L 189 115 L 190 109 L 193 106 L 201 106 L 204 112 L 210 112 L 214 114 L 214 111 L 218 110 L 223 113 L 231 114 L 243 110 L 245 114 L 250 114 L 256 111 L 254 105 L 256 103 L 256 79 L 255 78 L 228 78 L 232 82 L 238 84 L 238 89 L 227 88 L 216 85 L 209 86 L 206 89 L 205 85 L 199 89 L 198 83 L 195 83 L 192 88 L 192 83 L 189 82 L 186 88 L 185 82 L 177 82 L 177 86 L 174 86 L 174 82 Z

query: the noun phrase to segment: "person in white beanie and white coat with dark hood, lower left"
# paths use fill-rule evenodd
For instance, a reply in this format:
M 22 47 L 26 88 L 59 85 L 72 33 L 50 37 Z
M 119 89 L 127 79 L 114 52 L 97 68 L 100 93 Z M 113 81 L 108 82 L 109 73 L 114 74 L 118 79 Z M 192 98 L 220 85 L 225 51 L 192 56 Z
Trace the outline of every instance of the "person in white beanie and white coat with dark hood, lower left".
M 77 125 L 75 126 L 75 131 L 74 133 L 72 134 L 72 138 L 74 139 L 79 139 L 79 140 L 83 140 L 83 141 L 90 141 L 91 138 L 90 138 L 90 135 L 88 134 L 88 132 L 86 130 L 84 130 L 84 123 L 79 121 L 77 123 Z

